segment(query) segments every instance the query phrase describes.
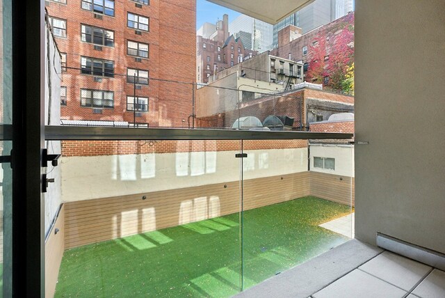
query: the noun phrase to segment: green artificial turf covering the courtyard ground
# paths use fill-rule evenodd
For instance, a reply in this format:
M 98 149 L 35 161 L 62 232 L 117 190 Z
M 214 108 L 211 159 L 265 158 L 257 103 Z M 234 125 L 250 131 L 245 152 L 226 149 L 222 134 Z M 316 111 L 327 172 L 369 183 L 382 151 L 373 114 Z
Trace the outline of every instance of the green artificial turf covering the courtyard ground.
M 318 226 L 350 207 L 315 197 L 65 251 L 56 297 L 230 297 L 348 240 Z M 241 271 L 242 270 L 242 271 Z

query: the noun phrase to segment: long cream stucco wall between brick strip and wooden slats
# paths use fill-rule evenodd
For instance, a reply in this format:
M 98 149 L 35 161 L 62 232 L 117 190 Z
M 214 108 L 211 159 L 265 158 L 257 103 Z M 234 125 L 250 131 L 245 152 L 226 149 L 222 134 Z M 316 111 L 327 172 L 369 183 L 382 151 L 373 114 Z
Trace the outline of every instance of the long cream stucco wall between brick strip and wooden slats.
M 63 157 L 63 201 L 81 201 L 231 182 L 238 151 Z M 244 179 L 307 171 L 307 148 L 249 150 Z

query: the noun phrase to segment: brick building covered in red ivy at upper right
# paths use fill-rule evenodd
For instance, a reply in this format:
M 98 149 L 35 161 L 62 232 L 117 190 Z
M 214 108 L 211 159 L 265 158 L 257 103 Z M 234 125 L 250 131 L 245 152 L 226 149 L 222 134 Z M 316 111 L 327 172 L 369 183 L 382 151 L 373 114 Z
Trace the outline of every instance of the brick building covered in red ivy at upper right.
M 305 81 L 343 90 L 348 67 L 354 62 L 354 13 L 302 35 L 290 25 L 278 32 L 271 55 L 304 63 Z

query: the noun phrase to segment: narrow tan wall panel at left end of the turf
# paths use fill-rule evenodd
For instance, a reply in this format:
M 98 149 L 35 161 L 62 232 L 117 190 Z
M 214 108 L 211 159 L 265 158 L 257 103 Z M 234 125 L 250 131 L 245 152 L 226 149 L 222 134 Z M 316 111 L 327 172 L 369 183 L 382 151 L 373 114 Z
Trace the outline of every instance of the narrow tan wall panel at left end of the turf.
M 65 251 L 64 239 L 65 239 L 65 207 L 62 205 L 56 224 L 50 232 L 47 242 L 44 244 L 44 283 L 45 283 L 45 297 L 54 297 L 54 291 L 56 290 L 56 283 L 58 279 L 58 270 L 60 268 L 60 262 L 62 262 L 63 251 Z M 58 228 L 58 233 L 55 234 L 54 230 Z

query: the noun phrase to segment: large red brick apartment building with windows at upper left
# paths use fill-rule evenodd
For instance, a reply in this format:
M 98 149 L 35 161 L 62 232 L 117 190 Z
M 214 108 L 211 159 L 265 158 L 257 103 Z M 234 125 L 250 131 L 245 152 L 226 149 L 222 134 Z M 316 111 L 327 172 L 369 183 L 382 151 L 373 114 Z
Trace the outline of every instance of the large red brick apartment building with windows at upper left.
M 63 120 L 180 127 L 191 115 L 193 88 L 174 82 L 195 80 L 195 1 L 45 5 L 63 59 Z

